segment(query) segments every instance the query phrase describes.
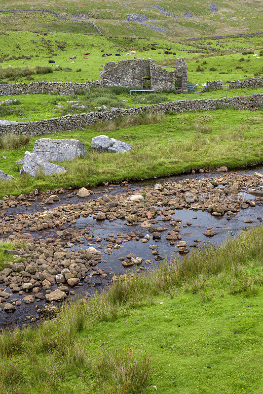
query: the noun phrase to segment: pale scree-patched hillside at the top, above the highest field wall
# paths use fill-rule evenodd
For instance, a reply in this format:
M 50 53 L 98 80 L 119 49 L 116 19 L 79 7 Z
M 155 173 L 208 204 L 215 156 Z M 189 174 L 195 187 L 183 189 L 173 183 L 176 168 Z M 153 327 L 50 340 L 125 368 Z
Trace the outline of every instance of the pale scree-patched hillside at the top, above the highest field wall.
M 29 31 L 75 31 L 90 32 L 91 26 L 85 22 L 96 23 L 101 32 L 106 35 L 132 37 L 172 37 L 203 36 L 233 34 L 247 31 L 260 31 L 261 20 L 260 1 L 227 1 L 216 2 L 217 11 L 209 9 L 210 2 L 172 0 L 153 2 L 166 8 L 170 14 L 165 15 L 151 7 L 152 3 L 144 0 L 130 1 L 74 1 L 50 0 L 2 0 L 0 24 L 10 30 Z M 8 10 L 23 10 L 23 12 L 9 12 Z M 80 22 L 60 20 L 50 13 L 36 10 L 56 11 L 61 17 L 78 20 Z M 188 12 L 191 17 L 184 14 Z M 141 13 L 150 18 L 148 22 L 136 23 L 127 21 L 131 13 Z M 88 19 L 87 19 L 88 18 Z M 159 26 L 166 31 L 156 32 L 147 25 Z

